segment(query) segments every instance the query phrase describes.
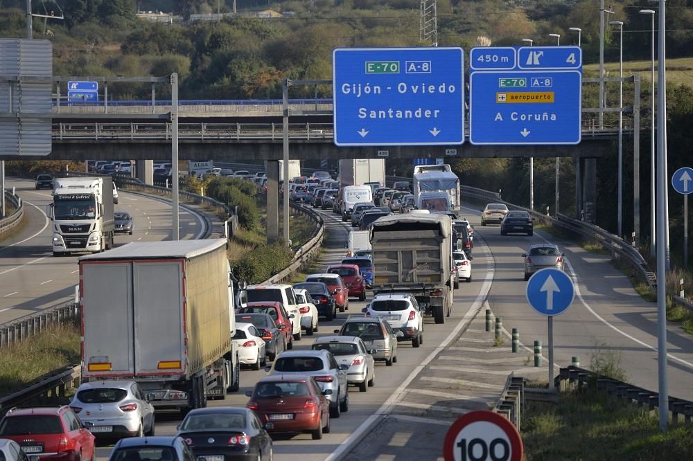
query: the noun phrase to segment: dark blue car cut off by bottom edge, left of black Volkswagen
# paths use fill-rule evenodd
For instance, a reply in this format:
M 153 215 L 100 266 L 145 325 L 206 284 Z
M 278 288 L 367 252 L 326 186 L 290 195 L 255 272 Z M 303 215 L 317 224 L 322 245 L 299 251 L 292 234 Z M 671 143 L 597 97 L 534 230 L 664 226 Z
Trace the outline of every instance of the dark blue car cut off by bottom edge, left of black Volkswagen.
M 195 459 L 190 447 L 181 437 L 132 437 L 121 439 L 113 447 L 109 461 Z

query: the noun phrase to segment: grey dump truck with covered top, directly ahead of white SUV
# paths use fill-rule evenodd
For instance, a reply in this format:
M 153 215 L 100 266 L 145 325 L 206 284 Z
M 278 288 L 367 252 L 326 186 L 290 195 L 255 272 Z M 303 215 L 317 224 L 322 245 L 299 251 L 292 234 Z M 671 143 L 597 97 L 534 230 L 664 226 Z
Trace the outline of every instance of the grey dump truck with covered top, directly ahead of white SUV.
M 411 293 L 445 323 L 453 309 L 452 222 L 447 215 L 392 215 L 371 228 L 374 294 Z

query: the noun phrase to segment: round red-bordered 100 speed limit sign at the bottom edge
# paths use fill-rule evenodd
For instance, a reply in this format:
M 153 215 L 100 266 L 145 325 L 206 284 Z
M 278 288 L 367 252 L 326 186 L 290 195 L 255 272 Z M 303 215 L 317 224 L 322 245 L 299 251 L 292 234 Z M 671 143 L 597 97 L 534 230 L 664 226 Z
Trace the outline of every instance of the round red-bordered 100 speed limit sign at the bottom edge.
M 487 410 L 463 415 L 448 429 L 445 461 L 522 461 L 523 444 L 517 428 Z

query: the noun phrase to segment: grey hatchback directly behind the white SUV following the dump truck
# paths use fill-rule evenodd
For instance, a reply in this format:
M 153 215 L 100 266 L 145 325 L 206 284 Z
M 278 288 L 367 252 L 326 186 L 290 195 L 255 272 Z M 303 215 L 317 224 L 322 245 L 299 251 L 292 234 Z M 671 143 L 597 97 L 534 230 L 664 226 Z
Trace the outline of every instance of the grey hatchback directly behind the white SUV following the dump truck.
M 335 329 L 340 336 L 358 336 L 369 349 L 375 350 L 373 358 L 392 366 L 397 361 L 397 336 L 380 317 L 351 317 Z

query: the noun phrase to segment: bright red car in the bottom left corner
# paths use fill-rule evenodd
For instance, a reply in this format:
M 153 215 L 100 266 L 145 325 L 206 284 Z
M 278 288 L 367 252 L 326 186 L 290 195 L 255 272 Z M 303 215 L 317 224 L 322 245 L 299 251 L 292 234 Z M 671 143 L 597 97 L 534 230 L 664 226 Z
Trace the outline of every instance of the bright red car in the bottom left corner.
M 14 440 L 40 461 L 95 458 L 95 437 L 69 406 L 12 408 L 0 421 L 0 438 Z

